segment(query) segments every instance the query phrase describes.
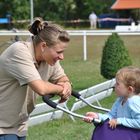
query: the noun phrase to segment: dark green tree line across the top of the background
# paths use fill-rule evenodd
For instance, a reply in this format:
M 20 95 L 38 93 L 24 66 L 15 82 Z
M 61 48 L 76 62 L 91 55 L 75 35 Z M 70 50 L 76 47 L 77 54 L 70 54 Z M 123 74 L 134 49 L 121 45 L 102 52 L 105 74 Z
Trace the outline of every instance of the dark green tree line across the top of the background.
M 48 21 L 87 20 L 92 11 L 97 16 L 103 13 L 119 13 L 126 18 L 130 15 L 140 16 L 132 10 L 111 10 L 114 2 L 115 0 L 33 0 L 34 17 Z M 7 15 L 11 15 L 12 20 L 30 20 L 30 0 L 0 0 L 0 18 Z

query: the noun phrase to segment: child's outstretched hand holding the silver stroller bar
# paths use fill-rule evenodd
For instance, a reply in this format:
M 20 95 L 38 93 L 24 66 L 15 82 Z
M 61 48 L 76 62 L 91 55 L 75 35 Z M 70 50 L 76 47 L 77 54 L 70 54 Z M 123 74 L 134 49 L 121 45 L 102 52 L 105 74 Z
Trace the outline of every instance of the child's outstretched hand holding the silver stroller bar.
M 86 117 L 84 118 L 85 122 L 91 123 L 93 119 L 98 119 L 98 114 L 94 112 L 87 112 Z

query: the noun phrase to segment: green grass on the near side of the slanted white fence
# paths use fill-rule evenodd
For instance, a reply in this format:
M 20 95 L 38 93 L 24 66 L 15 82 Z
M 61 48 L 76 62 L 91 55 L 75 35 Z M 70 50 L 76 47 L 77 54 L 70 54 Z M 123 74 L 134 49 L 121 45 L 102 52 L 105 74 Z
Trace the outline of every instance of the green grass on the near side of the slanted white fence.
M 114 95 L 101 102 L 105 107 L 110 108 Z M 85 114 L 87 111 L 94 111 L 90 107 L 84 107 L 78 111 Z M 29 128 L 28 140 L 89 140 L 94 130 L 93 124 L 88 124 L 80 119 L 73 122 L 68 115 L 60 120 L 53 120 Z

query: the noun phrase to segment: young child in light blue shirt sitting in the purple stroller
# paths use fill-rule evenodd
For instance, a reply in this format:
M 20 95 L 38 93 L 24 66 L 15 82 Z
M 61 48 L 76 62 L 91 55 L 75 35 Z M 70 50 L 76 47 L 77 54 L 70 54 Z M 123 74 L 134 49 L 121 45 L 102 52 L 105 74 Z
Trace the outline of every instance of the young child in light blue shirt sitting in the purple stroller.
M 105 121 L 114 129 L 117 125 L 140 129 L 140 69 L 124 67 L 116 74 L 115 92 L 118 96 L 107 114 L 87 112 L 84 121 Z

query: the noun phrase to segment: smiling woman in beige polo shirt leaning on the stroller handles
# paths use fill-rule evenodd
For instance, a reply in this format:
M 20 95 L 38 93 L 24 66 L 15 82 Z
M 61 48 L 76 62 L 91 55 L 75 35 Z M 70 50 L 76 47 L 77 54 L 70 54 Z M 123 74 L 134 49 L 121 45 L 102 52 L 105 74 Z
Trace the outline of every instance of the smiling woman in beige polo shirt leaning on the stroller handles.
M 28 41 L 12 44 L 0 56 L 0 140 L 26 139 L 36 93 L 55 93 L 60 102 L 71 95 L 70 81 L 59 64 L 70 40 L 68 33 L 41 18 L 29 31 L 33 36 Z

